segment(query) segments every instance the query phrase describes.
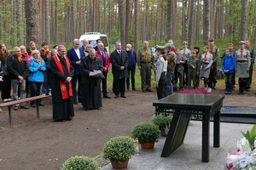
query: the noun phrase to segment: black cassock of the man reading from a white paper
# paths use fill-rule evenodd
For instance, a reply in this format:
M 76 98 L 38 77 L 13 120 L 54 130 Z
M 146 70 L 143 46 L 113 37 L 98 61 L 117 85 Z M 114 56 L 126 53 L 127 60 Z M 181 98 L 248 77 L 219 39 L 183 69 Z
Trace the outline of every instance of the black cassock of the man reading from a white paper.
M 89 77 L 90 71 L 103 71 L 102 60 L 90 59 L 86 56 L 81 59 L 80 71 L 83 74 L 82 105 L 86 109 L 102 107 L 101 78 Z

